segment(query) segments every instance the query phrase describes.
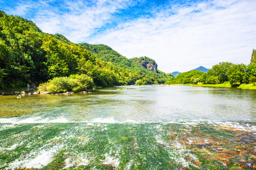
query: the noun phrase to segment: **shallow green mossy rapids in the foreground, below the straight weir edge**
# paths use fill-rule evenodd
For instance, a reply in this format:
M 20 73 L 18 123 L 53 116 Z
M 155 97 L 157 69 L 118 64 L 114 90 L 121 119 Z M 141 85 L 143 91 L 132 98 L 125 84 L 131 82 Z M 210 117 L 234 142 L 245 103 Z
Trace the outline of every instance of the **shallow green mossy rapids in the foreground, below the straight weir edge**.
M 70 170 L 228 170 L 238 166 L 249 169 L 241 160 L 254 165 L 251 152 L 255 141 L 243 141 L 253 134 L 217 126 L 205 122 L 0 124 L 0 169 L 8 169 L 13 161 L 31 161 L 53 150 L 51 161 L 39 170 L 60 170 L 68 163 Z M 195 144 L 195 140 L 210 141 Z M 243 152 L 239 153 L 236 146 L 241 146 Z M 224 149 L 219 151 L 217 147 Z

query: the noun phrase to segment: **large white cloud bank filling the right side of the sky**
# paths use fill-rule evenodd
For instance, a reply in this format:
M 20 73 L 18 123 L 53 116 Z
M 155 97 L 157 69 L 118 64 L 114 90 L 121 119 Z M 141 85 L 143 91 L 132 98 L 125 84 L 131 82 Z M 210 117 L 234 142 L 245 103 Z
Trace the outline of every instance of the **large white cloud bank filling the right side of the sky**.
M 174 6 L 157 17 L 121 24 L 90 42 L 107 44 L 127 58 L 148 56 L 165 72 L 211 68 L 221 61 L 248 64 L 256 45 L 255 6 L 253 0 Z

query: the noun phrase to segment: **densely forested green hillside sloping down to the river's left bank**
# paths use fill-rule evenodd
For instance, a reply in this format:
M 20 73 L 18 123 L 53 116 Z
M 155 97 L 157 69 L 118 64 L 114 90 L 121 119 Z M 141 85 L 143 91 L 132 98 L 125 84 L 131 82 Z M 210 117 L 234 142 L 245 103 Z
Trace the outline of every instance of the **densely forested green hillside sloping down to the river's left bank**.
M 54 84 L 57 77 L 66 77 L 62 80 L 75 88 L 70 82 L 76 79 L 81 84 L 79 75 L 89 81 L 88 88 L 91 80 L 98 86 L 134 85 L 137 80 L 164 83 L 172 76 L 137 66 L 110 47 L 91 46 L 74 44 L 60 34 L 43 33 L 32 21 L 0 11 L 0 88 L 48 80 Z

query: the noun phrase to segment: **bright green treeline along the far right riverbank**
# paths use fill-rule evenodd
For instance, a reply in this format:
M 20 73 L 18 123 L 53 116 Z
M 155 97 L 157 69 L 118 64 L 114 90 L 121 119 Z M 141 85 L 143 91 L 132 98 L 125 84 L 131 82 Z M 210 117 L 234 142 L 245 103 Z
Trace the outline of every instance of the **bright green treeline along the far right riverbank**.
M 249 65 L 220 62 L 214 65 L 207 73 L 192 70 L 181 73 L 176 78 L 169 79 L 165 84 L 237 84 L 256 83 L 256 50 L 253 49 Z

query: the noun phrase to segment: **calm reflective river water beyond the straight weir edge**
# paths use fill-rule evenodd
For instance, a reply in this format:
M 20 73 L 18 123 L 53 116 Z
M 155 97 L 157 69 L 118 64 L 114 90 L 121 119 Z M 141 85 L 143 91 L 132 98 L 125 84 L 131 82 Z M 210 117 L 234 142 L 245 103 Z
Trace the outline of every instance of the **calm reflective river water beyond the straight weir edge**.
M 85 94 L 1 96 L 0 108 L 2 123 L 255 121 L 256 91 L 120 86 Z

